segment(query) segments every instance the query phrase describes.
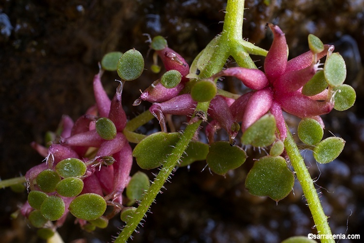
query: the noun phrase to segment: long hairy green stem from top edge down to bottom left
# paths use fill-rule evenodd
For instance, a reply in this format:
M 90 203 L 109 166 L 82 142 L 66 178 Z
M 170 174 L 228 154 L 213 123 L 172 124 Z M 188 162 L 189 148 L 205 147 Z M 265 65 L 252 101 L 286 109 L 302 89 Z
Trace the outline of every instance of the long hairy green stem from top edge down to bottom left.
M 242 39 L 243 30 L 243 14 L 244 14 L 244 0 L 228 0 L 227 12 L 225 15 L 225 22 L 221 41 L 218 43 L 218 47 L 215 49 L 210 61 L 206 63 L 206 68 L 199 74 L 200 77 L 210 77 L 219 70 L 221 70 L 230 55 L 230 41 L 237 41 Z M 196 110 L 207 112 L 209 102 L 198 103 Z M 132 121 L 130 121 L 130 124 Z M 165 164 L 154 179 L 147 193 L 144 195 L 143 200 L 135 210 L 133 217 L 128 221 L 124 229 L 117 236 L 115 243 L 126 242 L 132 233 L 136 230 L 140 221 L 143 219 L 146 212 L 149 210 L 150 205 L 154 202 L 157 194 L 161 191 L 165 181 L 173 172 L 174 168 L 178 164 L 184 150 L 187 148 L 191 139 L 195 135 L 201 121 L 192 123 L 186 127 L 181 135 L 181 139 L 175 145 L 170 156 L 167 157 Z M 127 130 L 132 130 L 136 125 L 127 125 Z

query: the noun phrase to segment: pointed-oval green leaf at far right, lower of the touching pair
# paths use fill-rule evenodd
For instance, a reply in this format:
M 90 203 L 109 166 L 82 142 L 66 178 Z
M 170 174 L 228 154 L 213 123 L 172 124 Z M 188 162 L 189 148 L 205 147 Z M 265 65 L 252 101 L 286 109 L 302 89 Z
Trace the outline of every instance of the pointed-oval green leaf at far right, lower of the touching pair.
M 326 164 L 337 158 L 343 151 L 345 140 L 330 137 L 322 140 L 314 147 L 314 158 L 320 164 Z

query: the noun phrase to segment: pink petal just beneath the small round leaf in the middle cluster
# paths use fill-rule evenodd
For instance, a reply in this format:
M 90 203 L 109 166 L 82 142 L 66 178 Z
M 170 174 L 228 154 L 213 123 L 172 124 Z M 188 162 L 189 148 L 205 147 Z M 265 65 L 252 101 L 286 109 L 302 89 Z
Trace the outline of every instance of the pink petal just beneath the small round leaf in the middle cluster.
M 184 84 L 180 83 L 174 88 L 166 88 L 161 83 L 149 86 L 140 95 L 140 99 L 149 102 L 165 102 L 176 97 L 184 88 Z

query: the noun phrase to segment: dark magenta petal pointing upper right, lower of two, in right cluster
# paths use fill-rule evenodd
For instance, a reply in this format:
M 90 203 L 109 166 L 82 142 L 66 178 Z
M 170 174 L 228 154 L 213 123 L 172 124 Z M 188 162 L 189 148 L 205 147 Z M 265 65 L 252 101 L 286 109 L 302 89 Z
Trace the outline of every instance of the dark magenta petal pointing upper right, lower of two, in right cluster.
M 305 69 L 285 72 L 274 82 L 273 86 L 282 93 L 297 91 L 310 81 L 316 71 L 317 66 L 311 65 Z

